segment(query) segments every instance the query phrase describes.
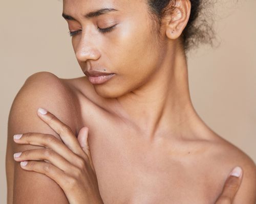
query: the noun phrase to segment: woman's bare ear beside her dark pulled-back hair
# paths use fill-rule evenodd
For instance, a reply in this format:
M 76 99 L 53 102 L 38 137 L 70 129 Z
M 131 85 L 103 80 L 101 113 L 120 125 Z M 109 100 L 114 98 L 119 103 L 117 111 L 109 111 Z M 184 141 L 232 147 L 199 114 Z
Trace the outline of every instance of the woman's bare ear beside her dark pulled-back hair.
M 189 0 L 176 0 L 172 13 L 166 19 L 166 36 L 169 39 L 177 39 L 185 29 L 189 16 L 191 3 Z

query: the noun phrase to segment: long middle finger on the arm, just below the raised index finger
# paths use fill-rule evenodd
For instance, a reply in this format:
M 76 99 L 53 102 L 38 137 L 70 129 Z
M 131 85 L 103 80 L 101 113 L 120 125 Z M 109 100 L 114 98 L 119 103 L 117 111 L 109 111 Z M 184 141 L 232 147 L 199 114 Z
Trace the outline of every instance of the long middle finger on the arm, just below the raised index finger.
M 19 144 L 31 144 L 37 146 L 43 146 L 47 148 L 51 148 L 57 154 L 61 155 L 67 161 L 75 166 L 79 166 L 79 160 L 81 159 L 79 156 L 74 154 L 65 144 L 63 144 L 59 139 L 50 134 L 41 134 L 41 133 L 25 133 L 22 134 L 19 139 L 15 139 L 14 141 Z M 86 157 L 86 156 L 84 156 Z

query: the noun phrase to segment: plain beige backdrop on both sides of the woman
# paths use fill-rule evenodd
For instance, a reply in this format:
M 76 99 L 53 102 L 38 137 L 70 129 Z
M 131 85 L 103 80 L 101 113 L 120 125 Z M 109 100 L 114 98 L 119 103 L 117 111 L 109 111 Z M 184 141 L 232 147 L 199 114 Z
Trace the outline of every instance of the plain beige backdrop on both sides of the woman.
M 4 2 L 4 3 L 3 3 Z M 256 161 L 256 1 L 219 0 L 215 28 L 220 46 L 189 54 L 193 104 L 212 130 Z M 0 3 L 0 203 L 6 203 L 5 154 L 12 101 L 29 75 L 50 71 L 80 77 L 68 26 L 55 1 Z

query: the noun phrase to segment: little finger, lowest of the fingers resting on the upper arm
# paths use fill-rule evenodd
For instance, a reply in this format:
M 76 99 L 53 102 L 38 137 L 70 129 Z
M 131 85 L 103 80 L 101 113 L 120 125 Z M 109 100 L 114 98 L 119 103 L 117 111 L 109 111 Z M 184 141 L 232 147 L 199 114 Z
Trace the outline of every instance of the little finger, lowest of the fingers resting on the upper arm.
M 20 162 L 20 167 L 22 167 L 24 170 L 35 171 L 47 175 L 63 190 L 65 190 L 69 185 L 69 176 L 51 163 L 41 161 L 24 161 Z

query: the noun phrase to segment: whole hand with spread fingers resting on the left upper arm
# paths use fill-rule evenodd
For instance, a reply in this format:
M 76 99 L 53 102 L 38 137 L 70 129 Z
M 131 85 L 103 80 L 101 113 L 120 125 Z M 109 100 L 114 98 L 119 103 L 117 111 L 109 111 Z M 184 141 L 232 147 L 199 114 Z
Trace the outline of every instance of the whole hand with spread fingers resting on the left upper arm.
M 37 114 L 62 141 L 49 134 L 14 135 L 18 144 L 45 147 L 18 152 L 14 159 L 21 162 L 23 169 L 45 174 L 54 180 L 71 204 L 103 203 L 90 154 L 88 127 L 83 127 L 76 138 L 70 127 L 52 113 L 38 109 Z M 18 138 L 15 136 L 22 137 L 15 139 Z

